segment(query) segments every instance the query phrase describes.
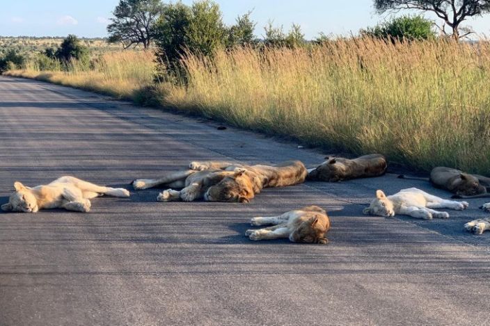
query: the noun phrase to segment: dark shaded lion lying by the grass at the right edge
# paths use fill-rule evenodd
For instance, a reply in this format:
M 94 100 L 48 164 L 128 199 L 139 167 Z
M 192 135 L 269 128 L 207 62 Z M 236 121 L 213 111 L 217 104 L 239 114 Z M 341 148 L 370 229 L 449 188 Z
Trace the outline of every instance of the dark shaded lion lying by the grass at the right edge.
M 400 179 L 425 180 L 426 178 L 398 176 Z M 490 178 L 478 174 L 469 174 L 461 170 L 438 166 L 430 172 L 430 183 L 455 195 L 452 198 L 490 197 Z

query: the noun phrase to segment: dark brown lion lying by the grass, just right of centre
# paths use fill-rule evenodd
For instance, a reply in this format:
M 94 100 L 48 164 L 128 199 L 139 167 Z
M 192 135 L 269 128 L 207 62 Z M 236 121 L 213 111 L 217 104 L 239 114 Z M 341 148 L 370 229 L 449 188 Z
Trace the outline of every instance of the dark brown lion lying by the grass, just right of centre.
M 308 170 L 308 180 L 336 182 L 342 180 L 379 177 L 386 173 L 388 164 L 381 154 L 370 154 L 349 160 L 326 156 L 317 168 Z

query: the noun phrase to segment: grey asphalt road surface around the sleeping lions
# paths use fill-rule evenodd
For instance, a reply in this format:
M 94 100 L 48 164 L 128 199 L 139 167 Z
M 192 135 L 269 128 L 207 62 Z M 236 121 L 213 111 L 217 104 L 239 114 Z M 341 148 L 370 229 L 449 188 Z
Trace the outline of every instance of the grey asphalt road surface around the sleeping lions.
M 126 186 L 193 160 L 308 167 L 324 154 L 71 88 L 0 77 L 0 204 L 16 180 Z M 471 200 L 449 220 L 362 215 L 394 174 L 267 189 L 250 204 L 93 199 L 90 213 L 0 213 L 0 325 L 490 325 L 490 232 Z M 255 215 L 316 204 L 329 245 L 252 242 Z

